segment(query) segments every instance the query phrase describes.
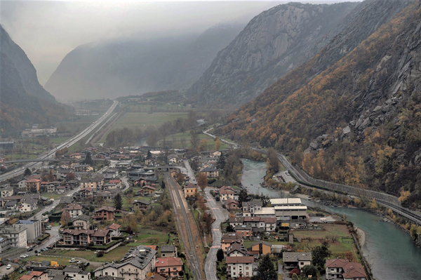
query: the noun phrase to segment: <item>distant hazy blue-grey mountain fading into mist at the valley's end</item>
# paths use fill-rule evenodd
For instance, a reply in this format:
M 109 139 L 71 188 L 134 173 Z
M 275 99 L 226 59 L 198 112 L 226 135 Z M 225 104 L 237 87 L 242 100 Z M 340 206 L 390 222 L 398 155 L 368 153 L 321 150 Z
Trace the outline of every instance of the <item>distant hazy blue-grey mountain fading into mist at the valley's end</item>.
M 242 28 L 217 25 L 199 36 L 79 46 L 63 58 L 45 87 L 61 100 L 189 88 Z

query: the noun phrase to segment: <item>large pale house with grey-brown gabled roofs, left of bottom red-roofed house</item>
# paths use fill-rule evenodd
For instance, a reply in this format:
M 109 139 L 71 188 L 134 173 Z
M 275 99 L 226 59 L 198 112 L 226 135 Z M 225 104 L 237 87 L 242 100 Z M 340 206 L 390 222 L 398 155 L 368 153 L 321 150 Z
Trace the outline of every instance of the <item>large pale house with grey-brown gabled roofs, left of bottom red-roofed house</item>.
M 100 276 L 121 277 L 124 280 L 145 279 L 149 272 L 153 272 L 156 264 L 156 251 L 140 245 L 131 248 L 119 263 L 111 262 L 98 267 L 93 272 L 95 278 Z

